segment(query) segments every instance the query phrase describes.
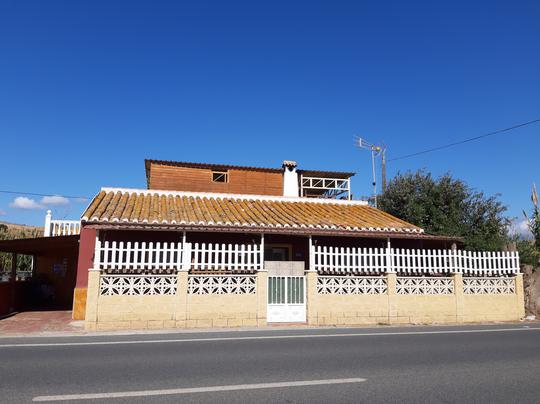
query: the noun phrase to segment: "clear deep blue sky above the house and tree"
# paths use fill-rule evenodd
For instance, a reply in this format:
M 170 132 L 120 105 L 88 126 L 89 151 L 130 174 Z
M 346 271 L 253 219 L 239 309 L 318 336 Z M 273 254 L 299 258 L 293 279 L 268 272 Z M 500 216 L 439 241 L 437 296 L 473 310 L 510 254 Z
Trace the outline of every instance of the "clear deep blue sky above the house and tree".
M 367 195 L 354 135 L 392 158 L 540 117 L 540 3 L 480 3 L 5 0 L 0 189 L 93 196 L 145 187 L 144 158 L 293 159 L 356 171 Z M 533 125 L 389 174 L 450 171 L 519 216 L 539 150 Z M 41 198 L 15 197 L 0 220 L 41 224 Z

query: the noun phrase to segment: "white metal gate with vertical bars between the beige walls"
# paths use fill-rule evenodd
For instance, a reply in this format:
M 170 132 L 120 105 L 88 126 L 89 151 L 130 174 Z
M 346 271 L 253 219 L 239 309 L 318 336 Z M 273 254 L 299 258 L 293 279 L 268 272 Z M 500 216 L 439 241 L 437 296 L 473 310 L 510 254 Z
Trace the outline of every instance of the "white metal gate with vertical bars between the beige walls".
M 306 288 L 304 276 L 269 276 L 269 323 L 296 323 L 306 321 Z

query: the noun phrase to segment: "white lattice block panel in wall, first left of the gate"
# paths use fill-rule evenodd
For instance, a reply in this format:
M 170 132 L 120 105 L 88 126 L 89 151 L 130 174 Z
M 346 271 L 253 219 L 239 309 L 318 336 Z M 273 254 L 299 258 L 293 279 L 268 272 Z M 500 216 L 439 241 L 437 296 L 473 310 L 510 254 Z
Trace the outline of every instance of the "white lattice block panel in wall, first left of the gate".
M 247 275 L 190 275 L 188 293 L 193 295 L 223 295 L 255 293 L 256 276 Z

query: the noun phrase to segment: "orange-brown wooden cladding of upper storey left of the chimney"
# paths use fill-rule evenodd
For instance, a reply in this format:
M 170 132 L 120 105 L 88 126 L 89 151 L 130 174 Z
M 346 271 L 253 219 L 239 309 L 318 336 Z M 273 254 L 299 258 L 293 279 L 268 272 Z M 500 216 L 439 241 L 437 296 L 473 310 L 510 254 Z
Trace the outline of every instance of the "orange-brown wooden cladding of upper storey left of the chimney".
M 229 182 L 213 182 L 212 170 L 207 168 L 152 164 L 148 188 L 169 191 L 283 195 L 281 173 L 234 169 L 228 171 Z

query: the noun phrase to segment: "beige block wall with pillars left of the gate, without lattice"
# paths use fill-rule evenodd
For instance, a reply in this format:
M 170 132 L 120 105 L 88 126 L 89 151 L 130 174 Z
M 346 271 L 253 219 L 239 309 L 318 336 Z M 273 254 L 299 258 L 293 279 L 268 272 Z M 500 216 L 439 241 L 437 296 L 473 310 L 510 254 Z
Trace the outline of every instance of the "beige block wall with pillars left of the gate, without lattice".
M 257 275 L 256 293 L 212 295 L 187 293 L 188 274 L 179 272 L 176 295 L 101 296 L 99 276 L 89 273 L 87 330 L 266 325 L 265 272 Z

